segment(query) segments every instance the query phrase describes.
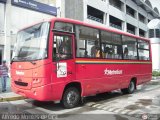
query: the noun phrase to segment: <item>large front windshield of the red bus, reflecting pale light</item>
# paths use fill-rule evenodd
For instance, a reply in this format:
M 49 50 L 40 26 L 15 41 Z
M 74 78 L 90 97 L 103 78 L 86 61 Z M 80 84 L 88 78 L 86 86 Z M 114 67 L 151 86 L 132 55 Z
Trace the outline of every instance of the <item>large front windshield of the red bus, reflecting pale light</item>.
M 49 25 L 49 22 L 43 22 L 20 31 L 12 60 L 32 61 L 46 58 Z

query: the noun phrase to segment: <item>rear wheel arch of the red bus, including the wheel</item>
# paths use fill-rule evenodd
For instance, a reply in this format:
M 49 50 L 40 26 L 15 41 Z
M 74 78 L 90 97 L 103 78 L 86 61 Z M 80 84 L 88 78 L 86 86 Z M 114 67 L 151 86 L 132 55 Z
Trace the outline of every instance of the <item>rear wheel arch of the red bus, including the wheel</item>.
M 121 89 L 123 94 L 132 94 L 136 90 L 137 78 L 131 78 L 127 88 Z

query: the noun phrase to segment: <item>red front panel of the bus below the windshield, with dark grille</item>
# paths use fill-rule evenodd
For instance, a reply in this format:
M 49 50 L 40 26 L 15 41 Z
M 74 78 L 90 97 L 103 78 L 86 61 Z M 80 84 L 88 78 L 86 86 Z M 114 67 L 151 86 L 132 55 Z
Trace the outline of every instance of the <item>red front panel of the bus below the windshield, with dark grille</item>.
M 50 61 L 38 61 L 35 65 L 30 62 L 12 63 L 12 90 L 29 98 L 38 100 L 51 100 L 53 96 L 51 82 Z

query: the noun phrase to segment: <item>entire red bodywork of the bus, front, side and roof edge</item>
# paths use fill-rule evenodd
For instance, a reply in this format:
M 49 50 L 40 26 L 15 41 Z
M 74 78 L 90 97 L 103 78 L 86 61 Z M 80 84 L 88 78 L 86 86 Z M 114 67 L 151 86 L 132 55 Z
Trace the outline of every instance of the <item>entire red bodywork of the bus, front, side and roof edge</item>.
M 135 35 L 110 30 L 109 28 L 89 25 L 83 22 L 53 18 L 49 22 L 48 57 L 44 60 L 13 62 L 11 65 L 11 87 L 18 94 L 40 101 L 61 100 L 65 87 L 70 83 L 81 85 L 81 96 L 89 96 L 116 89 L 127 88 L 131 79 L 136 78 L 136 84 L 142 84 L 151 80 L 152 60 L 114 60 L 76 58 L 73 49 L 73 58 L 69 60 L 53 60 L 53 43 L 55 35 L 67 35 L 72 37 L 72 48 L 76 48 L 75 34 L 65 32 L 53 32 L 56 21 L 85 25 L 100 30 L 115 32 L 139 39 Z M 145 38 L 141 38 L 147 41 Z M 151 52 L 150 52 L 151 58 Z M 65 77 L 58 77 L 57 66 L 66 65 Z M 15 81 L 18 81 L 17 85 Z M 29 86 L 23 86 L 27 83 Z

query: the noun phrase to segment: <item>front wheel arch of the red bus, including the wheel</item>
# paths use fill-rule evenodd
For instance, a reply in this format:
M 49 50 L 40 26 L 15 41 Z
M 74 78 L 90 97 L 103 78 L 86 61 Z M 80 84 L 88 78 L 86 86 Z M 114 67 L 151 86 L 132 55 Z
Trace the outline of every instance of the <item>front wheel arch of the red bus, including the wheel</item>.
M 61 99 L 61 104 L 64 108 L 70 109 L 76 107 L 81 101 L 81 84 L 79 82 L 68 83 L 64 90 Z

